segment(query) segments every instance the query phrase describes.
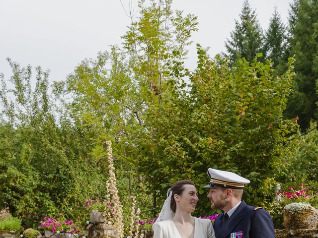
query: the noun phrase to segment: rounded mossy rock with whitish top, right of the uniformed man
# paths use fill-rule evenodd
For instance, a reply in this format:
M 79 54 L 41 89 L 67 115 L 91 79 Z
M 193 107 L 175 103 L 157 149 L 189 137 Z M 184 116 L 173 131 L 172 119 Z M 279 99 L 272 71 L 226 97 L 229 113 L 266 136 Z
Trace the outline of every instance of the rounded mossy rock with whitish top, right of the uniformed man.
M 291 203 L 283 210 L 286 229 L 315 229 L 318 223 L 317 209 L 308 203 Z

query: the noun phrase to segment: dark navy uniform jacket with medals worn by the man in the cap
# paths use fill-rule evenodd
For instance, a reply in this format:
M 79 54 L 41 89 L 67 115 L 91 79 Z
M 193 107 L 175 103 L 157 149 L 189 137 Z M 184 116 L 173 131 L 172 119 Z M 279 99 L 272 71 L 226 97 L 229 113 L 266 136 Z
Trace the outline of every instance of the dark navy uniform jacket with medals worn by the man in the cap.
M 223 216 L 224 212 L 213 225 L 216 238 L 275 238 L 273 220 L 263 208 L 247 206 L 242 201 L 224 222 Z

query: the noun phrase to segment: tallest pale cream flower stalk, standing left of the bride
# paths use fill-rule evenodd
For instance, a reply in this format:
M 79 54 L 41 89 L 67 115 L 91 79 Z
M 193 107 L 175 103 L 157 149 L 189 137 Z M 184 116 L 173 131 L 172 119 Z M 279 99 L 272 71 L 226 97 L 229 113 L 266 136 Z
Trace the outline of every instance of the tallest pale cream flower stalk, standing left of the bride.
M 111 148 L 111 141 L 106 141 L 107 145 L 107 158 L 108 158 L 108 174 L 109 174 L 109 193 L 113 203 L 114 214 L 116 218 L 116 230 L 118 237 L 124 237 L 124 223 L 123 223 L 123 206 L 120 203 L 118 190 L 116 186 L 115 167 L 113 165 L 113 154 Z M 106 231 L 106 224 L 104 230 Z

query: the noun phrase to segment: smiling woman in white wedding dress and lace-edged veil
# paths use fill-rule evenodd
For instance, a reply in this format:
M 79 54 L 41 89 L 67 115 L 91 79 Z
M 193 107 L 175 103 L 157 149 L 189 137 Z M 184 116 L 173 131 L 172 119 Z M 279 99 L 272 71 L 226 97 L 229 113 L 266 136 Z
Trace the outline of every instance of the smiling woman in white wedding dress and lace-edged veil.
M 153 225 L 154 238 L 215 238 L 209 219 L 191 216 L 198 200 L 192 181 L 175 182 L 169 188 L 167 199 Z

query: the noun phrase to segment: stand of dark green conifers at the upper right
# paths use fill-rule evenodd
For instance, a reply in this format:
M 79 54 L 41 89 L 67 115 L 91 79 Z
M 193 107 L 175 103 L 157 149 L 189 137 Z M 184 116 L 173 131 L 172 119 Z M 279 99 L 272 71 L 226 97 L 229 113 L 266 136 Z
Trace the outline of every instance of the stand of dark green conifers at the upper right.
M 318 6 L 315 0 L 294 0 L 290 5 L 288 30 L 274 10 L 269 27 L 262 36 L 256 13 L 244 1 L 240 20 L 236 21 L 231 39 L 225 43 L 227 57 L 235 62 L 244 57 L 252 61 L 257 53 L 271 60 L 281 75 L 286 70 L 289 57 L 295 58 L 293 92 L 284 111 L 286 119 L 299 118 L 298 124 L 304 132 L 311 120 L 317 120 L 317 24 Z

